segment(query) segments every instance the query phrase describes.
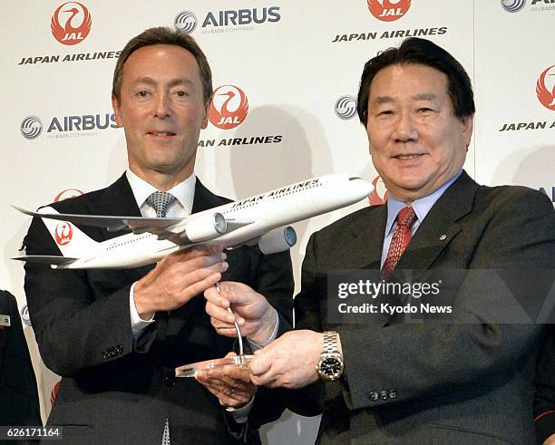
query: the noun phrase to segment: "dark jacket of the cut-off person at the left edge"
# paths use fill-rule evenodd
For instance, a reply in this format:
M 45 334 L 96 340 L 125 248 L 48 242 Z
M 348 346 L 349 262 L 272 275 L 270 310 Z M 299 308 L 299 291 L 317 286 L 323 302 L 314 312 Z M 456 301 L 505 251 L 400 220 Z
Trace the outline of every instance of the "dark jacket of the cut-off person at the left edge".
M 0 314 L 11 325 L 0 327 L 0 425 L 41 426 L 36 380 L 15 296 L 0 291 Z

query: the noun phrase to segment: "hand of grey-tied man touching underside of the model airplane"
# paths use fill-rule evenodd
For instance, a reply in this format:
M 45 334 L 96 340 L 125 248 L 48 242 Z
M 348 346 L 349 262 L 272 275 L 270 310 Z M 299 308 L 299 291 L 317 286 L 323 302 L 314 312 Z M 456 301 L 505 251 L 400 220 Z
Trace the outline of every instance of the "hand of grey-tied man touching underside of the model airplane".
M 218 283 L 228 269 L 220 247 L 191 247 L 164 256 L 133 288 L 137 312 L 149 320 L 159 311 L 172 311 Z

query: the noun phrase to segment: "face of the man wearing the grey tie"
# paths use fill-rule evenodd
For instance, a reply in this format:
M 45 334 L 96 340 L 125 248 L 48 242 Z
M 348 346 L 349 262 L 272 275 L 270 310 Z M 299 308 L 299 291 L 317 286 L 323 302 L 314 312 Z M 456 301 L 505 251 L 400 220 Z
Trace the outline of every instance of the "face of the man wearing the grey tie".
M 177 45 L 144 46 L 123 65 L 120 101 L 129 166 L 142 179 L 177 183 L 192 173 L 201 128 L 208 124 L 199 64 Z

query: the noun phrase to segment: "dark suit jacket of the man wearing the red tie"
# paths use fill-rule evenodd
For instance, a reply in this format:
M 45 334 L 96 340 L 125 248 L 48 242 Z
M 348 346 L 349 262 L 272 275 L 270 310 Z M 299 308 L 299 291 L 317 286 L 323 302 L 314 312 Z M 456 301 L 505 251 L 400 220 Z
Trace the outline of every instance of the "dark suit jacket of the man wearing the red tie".
M 464 282 L 461 324 L 329 324 L 326 276 L 334 269 L 378 269 L 385 206 L 364 208 L 317 232 L 307 245 L 297 328 L 336 329 L 345 378 L 322 395 L 321 443 L 528 444 L 542 327 L 499 324 L 517 308 L 500 283 Z M 430 210 L 397 269 L 554 269 L 555 217 L 544 195 L 482 187 L 463 175 Z M 287 399 L 314 414 L 307 392 Z M 290 395 L 290 394 L 289 394 Z

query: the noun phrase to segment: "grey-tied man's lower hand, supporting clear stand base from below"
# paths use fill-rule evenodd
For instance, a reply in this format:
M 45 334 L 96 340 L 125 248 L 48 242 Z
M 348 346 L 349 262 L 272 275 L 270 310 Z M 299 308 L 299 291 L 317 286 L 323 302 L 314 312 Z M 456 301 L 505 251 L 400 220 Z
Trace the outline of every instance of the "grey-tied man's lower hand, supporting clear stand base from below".
M 234 355 L 236 353 L 229 353 L 226 357 Z M 229 408 L 245 406 L 258 391 L 258 388 L 250 382 L 250 371 L 246 367 L 223 366 L 200 372 L 195 379 L 218 397 L 221 405 Z

